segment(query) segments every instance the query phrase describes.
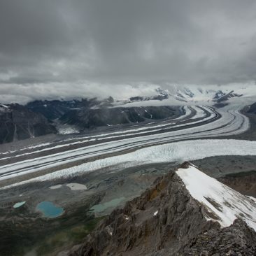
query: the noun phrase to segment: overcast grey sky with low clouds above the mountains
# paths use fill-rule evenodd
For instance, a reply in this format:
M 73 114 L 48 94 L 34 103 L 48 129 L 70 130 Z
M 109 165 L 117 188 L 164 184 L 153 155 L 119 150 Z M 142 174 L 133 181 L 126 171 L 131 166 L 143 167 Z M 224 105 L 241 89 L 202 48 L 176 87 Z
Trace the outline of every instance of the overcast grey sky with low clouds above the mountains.
M 255 80 L 255 0 L 0 0 L 0 100 Z

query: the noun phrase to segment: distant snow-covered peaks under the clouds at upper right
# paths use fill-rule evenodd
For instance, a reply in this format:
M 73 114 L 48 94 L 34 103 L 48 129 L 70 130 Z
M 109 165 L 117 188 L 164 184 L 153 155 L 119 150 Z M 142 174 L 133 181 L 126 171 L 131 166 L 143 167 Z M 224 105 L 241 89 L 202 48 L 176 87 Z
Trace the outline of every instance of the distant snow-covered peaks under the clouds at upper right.
M 141 92 L 143 93 L 143 92 Z M 246 98 L 246 100 L 245 100 Z M 163 85 L 150 96 L 134 95 L 126 101 L 116 101 L 114 107 L 215 105 L 216 103 L 246 106 L 256 101 L 256 85 Z

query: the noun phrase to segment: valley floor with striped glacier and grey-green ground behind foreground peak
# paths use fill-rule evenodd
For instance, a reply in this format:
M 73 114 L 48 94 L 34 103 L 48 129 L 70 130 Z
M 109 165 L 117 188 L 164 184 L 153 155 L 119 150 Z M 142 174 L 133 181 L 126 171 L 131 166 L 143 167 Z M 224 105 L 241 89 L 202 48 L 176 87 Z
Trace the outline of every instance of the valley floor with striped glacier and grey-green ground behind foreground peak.
M 24 141 L 15 149 L 3 146 L 0 235 L 5 242 L 0 252 L 56 255 L 83 241 L 113 208 L 185 160 L 255 197 L 250 181 L 256 173 L 256 141 L 243 140 L 252 132 L 249 118 L 239 108 L 191 106 L 173 120 L 84 136 L 35 138 L 33 145 L 24 147 Z M 64 213 L 45 218 L 36 209 L 42 201 L 53 202 Z M 40 254 L 42 247 L 49 250 Z

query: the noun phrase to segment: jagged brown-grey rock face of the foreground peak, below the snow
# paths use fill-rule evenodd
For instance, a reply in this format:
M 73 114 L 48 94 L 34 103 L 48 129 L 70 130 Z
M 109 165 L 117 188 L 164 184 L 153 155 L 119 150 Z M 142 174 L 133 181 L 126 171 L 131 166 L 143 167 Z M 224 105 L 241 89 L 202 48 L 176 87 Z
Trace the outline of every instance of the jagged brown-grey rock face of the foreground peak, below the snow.
M 208 214 L 176 173 L 169 173 L 113 211 L 85 243 L 59 256 L 255 255 L 256 233 L 245 222 L 221 229 L 206 221 Z

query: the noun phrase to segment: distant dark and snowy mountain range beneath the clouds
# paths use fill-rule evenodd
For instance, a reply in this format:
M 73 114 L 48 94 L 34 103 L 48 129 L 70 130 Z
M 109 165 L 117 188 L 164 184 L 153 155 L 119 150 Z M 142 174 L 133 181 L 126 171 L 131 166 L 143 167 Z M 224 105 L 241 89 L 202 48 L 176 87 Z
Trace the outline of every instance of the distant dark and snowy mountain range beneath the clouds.
M 170 118 L 183 113 L 180 106 L 229 104 L 234 99 L 252 96 L 255 91 L 255 88 L 206 88 L 170 87 L 169 90 L 162 90 L 159 87 L 150 96 L 139 95 L 122 100 L 108 97 L 38 100 L 26 106 L 0 104 L 0 143 L 58 132 L 78 133 L 95 127 Z

